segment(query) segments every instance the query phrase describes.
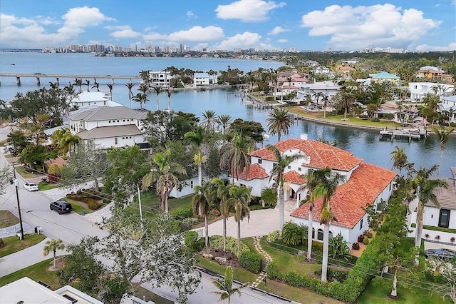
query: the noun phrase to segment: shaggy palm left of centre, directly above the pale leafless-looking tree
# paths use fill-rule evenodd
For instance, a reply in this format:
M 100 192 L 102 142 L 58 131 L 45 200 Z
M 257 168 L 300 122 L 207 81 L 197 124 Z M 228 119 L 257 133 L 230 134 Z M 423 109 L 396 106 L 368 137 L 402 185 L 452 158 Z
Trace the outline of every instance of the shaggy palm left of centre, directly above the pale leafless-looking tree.
M 161 209 L 166 213 L 168 212 L 168 197 L 170 196 L 170 192 L 179 183 L 177 176 L 183 176 L 187 173 L 184 166 L 172 161 L 170 157 L 171 151 L 169 149 L 165 153 L 155 154 L 153 163 L 156 168 L 152 169 L 152 171 L 142 178 L 142 190 L 150 187 L 152 183 L 156 183 L 155 190 L 161 199 Z

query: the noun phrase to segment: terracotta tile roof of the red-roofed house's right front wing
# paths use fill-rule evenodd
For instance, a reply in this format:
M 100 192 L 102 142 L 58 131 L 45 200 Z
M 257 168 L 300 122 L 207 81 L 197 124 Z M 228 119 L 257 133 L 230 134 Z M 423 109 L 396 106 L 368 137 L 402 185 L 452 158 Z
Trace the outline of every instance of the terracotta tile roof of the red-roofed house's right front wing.
M 393 181 L 396 173 L 370 163 L 361 163 L 351 178 L 331 198 L 331 208 L 337 221 L 331 225 L 353 228 L 364 216 L 363 207 L 373 203 L 380 193 Z M 320 221 L 323 201 L 316 199 L 314 221 Z M 309 204 L 304 204 L 291 213 L 296 218 L 309 218 Z

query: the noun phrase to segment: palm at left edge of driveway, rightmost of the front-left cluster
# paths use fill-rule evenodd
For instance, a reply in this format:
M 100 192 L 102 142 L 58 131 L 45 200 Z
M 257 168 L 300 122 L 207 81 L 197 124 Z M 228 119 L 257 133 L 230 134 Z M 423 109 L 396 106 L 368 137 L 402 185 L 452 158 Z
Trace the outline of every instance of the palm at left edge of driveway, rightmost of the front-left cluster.
M 249 203 L 252 200 L 250 188 L 246 186 L 232 186 L 229 188 L 229 204 L 234 206 L 234 221 L 237 222 L 237 250 L 241 250 L 241 221 L 250 218 Z

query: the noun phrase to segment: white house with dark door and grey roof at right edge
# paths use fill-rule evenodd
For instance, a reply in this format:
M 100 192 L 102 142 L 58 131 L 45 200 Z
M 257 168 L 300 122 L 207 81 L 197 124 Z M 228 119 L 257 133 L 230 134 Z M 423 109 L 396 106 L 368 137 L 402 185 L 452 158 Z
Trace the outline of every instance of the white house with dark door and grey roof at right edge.
M 447 181 L 448 188 L 437 188 L 434 193 L 440 208 L 432 203 L 427 203 L 423 216 L 423 235 L 425 241 L 445 243 L 456 246 L 456 233 L 439 228 L 456 229 L 456 167 L 450 168 L 452 178 L 442 178 Z M 415 236 L 416 214 L 418 198 L 411 201 L 408 208 L 411 213 L 408 218 L 409 236 Z M 425 226 L 429 226 L 426 228 Z M 433 229 L 433 228 L 435 229 Z M 456 249 L 456 248 L 455 248 Z

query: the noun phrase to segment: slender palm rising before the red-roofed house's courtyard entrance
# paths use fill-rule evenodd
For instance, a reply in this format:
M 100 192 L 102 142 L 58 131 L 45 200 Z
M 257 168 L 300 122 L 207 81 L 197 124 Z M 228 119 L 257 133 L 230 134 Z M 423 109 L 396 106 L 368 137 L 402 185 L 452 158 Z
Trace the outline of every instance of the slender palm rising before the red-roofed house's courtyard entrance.
M 291 163 L 299 160 L 300 158 L 304 158 L 304 154 L 292 154 L 289 156 L 283 156 L 282 153 L 276 146 L 267 146 L 266 147 L 269 151 L 274 153 L 276 158 L 275 165 L 272 167 L 271 177 L 269 178 L 269 182 L 271 182 L 272 178 L 276 180 L 276 189 L 277 194 L 279 195 L 279 226 L 280 230 L 284 228 L 284 171 Z

